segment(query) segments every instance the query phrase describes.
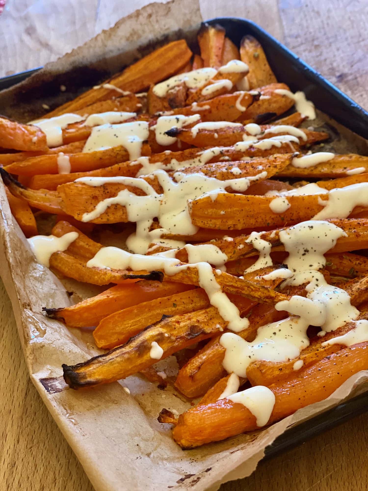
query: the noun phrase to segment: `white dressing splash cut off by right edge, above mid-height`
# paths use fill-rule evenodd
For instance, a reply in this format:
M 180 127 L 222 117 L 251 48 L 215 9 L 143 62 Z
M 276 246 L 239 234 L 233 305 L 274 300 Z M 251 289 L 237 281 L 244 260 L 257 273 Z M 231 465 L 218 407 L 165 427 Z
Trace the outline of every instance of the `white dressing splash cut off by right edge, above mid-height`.
M 327 200 L 318 198 L 318 204 L 324 208 L 313 217 L 315 220 L 347 218 L 356 206 L 368 206 L 368 182 L 332 189 Z

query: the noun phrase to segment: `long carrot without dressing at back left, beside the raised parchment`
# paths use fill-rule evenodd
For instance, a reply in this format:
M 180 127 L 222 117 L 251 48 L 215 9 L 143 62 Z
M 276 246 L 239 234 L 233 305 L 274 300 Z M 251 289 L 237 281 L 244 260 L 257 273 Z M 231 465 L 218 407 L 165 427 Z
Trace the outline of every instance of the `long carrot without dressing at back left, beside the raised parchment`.
M 112 79 L 105 81 L 99 88 L 90 89 L 73 101 L 49 112 L 46 117 L 58 116 L 65 112 L 75 112 L 96 102 L 110 99 L 114 96 L 119 97 L 121 96 L 121 90 L 140 92 L 151 85 L 151 83 L 160 82 L 177 73 L 186 65 L 191 56 L 192 52 L 184 39 L 172 41 L 136 61 L 121 74 L 115 75 Z M 119 90 L 116 91 L 104 87 L 106 82 L 110 86 L 114 85 L 118 87 L 120 92 Z

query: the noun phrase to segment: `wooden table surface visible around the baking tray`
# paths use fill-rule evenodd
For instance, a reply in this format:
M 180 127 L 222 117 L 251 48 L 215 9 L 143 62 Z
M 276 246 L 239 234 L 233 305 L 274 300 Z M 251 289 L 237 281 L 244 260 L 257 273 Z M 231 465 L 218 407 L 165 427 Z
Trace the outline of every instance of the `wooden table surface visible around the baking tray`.
M 127 3 L 8 0 L 0 17 L 0 77 L 55 59 L 148 1 Z M 366 0 L 202 0 L 201 10 L 203 18 L 255 21 L 368 109 Z M 67 37 L 60 34 L 65 25 Z M 29 380 L 2 283 L 0 373 L 0 491 L 93 491 Z M 367 490 L 367 426 L 368 414 L 356 417 L 261 462 L 252 476 L 227 483 L 221 491 Z

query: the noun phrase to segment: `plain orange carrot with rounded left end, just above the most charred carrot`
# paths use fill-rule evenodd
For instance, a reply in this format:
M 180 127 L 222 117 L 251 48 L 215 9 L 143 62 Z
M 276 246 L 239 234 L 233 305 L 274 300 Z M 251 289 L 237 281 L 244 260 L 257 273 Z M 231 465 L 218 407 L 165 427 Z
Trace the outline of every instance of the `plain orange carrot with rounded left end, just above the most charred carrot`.
M 176 316 L 207 308 L 210 301 L 202 288 L 175 293 L 124 308 L 102 319 L 93 331 L 99 348 L 111 349 L 129 341 L 163 316 Z

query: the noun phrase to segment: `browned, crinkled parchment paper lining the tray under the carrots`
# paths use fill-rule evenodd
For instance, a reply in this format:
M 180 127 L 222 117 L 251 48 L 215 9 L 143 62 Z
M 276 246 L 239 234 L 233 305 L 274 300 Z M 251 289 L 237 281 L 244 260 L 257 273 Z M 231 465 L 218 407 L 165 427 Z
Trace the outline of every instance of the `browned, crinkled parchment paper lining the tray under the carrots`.
M 62 102 L 56 97 L 60 95 L 61 81 L 69 82 L 66 95 L 61 97 L 71 98 L 85 83 L 86 73 L 102 79 L 169 39 L 184 36 L 190 41 L 200 21 L 196 0 L 148 5 L 50 63 L 26 82 L 0 93 L 0 112 L 22 120 L 40 116 L 43 93 L 53 106 L 56 101 Z M 76 70 L 80 74 L 77 81 L 70 78 Z M 65 71 L 68 75 L 63 75 Z M 92 85 L 95 80 L 89 83 Z M 323 121 L 325 117 L 320 124 Z M 350 147 L 367 153 L 365 140 L 332 123 L 343 135 L 335 137 L 340 151 Z M 314 126 L 318 124 L 314 122 Z M 348 145 L 344 137 L 349 138 Z M 100 351 L 89 332 L 67 328 L 45 317 L 41 309 L 70 305 L 72 300 L 65 286 L 81 298 L 96 292 L 77 282 L 63 284 L 35 262 L 11 216 L 1 181 L 0 213 L 0 274 L 12 301 L 30 377 L 97 491 L 217 490 L 221 483 L 251 474 L 262 459 L 264 448 L 290 425 L 368 389 L 368 371 L 360 372 L 327 400 L 301 409 L 263 431 L 183 451 L 172 440 L 168 425 L 157 422 L 163 407 L 178 412 L 188 407 L 172 391 L 158 390 L 139 376 L 84 391 L 67 389 L 60 382 L 62 363 L 75 364 Z M 173 359 L 160 363 L 175 365 Z M 123 386 L 129 387 L 130 395 Z

